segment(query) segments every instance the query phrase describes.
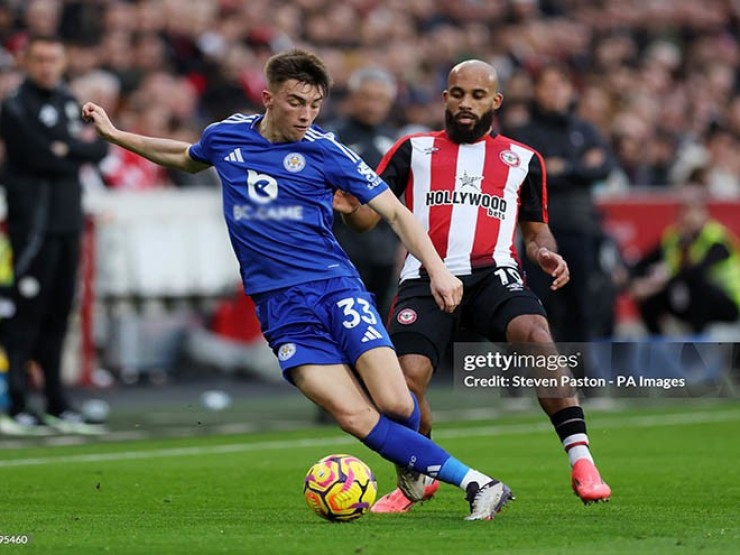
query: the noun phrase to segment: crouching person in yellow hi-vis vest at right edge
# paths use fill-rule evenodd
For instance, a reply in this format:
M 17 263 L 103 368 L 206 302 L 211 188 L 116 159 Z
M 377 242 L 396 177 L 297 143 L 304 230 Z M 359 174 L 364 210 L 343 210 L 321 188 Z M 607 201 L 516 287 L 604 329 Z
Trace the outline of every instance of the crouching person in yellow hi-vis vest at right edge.
M 635 266 L 629 290 L 653 335 L 663 334 L 667 315 L 693 333 L 740 317 L 740 242 L 709 217 L 702 187 L 681 191 L 675 223 Z

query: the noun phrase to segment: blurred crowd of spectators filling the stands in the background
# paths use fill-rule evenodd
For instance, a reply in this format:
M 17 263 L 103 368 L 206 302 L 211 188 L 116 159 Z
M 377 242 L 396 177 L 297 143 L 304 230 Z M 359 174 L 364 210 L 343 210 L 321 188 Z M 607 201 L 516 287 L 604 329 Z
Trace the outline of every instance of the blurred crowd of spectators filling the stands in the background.
M 211 121 L 260 110 L 262 66 L 306 47 L 335 80 L 321 122 L 341 115 L 349 75 L 382 67 L 398 81 L 392 123 L 439 127 L 440 91 L 462 58 L 493 63 L 500 124 L 529 118 L 532 75 L 560 61 L 576 109 L 608 138 L 619 168 L 606 191 L 693 183 L 740 197 L 737 0 L 0 0 L 0 97 L 20 79 L 29 33 L 68 43 L 69 84 L 121 127 L 195 140 Z M 110 187 L 215 184 L 166 175 L 114 150 Z

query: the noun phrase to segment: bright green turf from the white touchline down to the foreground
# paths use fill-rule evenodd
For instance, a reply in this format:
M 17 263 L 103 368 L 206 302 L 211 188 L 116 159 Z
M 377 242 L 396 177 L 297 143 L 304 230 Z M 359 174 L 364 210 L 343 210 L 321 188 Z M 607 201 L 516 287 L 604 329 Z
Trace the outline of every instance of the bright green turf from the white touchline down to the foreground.
M 320 457 L 351 452 L 381 492 L 393 482 L 390 465 L 327 427 L 0 451 L 0 540 L 31 536 L 0 553 L 737 553 L 738 423 L 737 403 L 592 414 L 614 496 L 590 507 L 541 415 L 440 425 L 442 445 L 517 495 L 492 522 L 463 521 L 449 486 L 406 515 L 319 519 L 301 488 Z

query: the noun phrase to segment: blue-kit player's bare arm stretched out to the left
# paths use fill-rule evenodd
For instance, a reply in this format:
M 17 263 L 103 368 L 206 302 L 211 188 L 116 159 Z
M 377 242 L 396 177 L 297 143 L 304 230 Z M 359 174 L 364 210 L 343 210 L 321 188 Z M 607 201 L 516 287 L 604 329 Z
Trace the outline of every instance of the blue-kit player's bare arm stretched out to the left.
M 190 157 L 190 145 L 183 141 L 145 137 L 137 133 L 129 133 L 117 129 L 110 121 L 108 114 L 93 102 L 86 102 L 82 106 L 82 117 L 95 126 L 98 135 L 126 150 L 130 150 L 151 160 L 160 166 L 174 168 L 189 173 L 197 173 L 209 167 L 208 164 L 198 162 Z

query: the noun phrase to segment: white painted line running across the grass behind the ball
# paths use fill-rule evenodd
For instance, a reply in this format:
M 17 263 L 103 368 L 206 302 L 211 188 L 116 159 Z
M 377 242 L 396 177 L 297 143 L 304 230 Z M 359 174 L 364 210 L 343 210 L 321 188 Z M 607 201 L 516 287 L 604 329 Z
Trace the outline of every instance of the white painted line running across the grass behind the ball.
M 731 422 L 740 420 L 740 411 L 727 412 L 695 412 L 677 413 L 653 416 L 627 416 L 622 419 L 598 422 L 591 425 L 592 429 L 604 428 L 650 428 L 653 426 L 680 426 L 686 424 L 707 424 L 711 422 Z M 451 428 L 438 430 L 435 438 L 463 438 L 500 435 L 523 435 L 550 431 L 549 422 L 533 422 L 523 424 L 505 424 L 500 426 L 483 426 L 472 428 Z M 13 459 L 0 461 L 0 468 L 15 468 L 20 466 L 40 466 L 48 464 L 68 464 L 85 462 L 115 462 L 137 459 L 153 459 L 161 457 L 186 457 L 191 455 L 221 455 L 228 453 L 245 453 L 249 451 L 270 451 L 282 449 L 300 449 L 305 447 L 321 447 L 330 445 L 348 445 L 357 442 L 353 437 L 335 436 L 324 438 L 290 439 L 278 441 L 261 441 L 256 443 L 236 443 L 214 445 L 212 447 L 181 447 L 172 449 L 155 449 L 150 451 L 122 451 L 120 453 L 90 453 L 81 455 L 64 455 L 60 457 L 34 457 L 28 459 Z

